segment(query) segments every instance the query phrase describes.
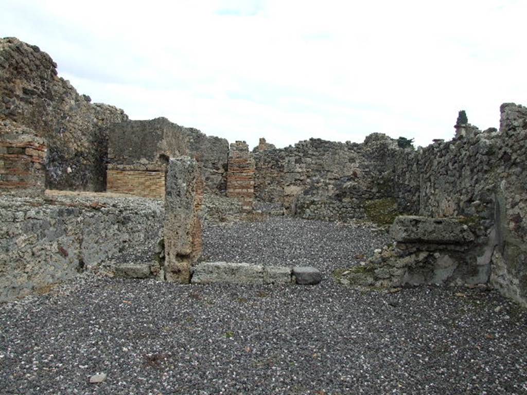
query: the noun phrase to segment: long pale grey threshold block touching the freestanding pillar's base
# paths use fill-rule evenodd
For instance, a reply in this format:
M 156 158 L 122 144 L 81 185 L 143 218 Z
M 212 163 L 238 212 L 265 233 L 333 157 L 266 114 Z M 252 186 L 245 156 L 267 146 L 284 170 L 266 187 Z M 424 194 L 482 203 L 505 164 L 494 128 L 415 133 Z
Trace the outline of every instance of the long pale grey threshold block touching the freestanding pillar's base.
M 263 284 L 264 268 L 249 263 L 202 262 L 194 266 L 192 284 Z

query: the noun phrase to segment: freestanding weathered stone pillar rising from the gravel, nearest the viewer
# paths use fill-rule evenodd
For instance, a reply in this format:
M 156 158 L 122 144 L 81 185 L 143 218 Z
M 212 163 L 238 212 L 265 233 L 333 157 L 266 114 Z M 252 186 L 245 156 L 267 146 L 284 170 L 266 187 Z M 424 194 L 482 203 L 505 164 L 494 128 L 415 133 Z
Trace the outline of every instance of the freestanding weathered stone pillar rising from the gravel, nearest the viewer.
M 202 250 L 203 179 L 198 163 L 188 156 L 170 159 L 165 191 L 165 278 L 187 284 Z

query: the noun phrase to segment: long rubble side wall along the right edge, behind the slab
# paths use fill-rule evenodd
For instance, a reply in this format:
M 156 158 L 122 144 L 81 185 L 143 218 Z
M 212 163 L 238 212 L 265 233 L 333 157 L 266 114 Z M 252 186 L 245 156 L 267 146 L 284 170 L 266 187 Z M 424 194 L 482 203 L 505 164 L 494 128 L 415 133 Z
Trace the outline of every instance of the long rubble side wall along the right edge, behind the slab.
M 494 246 L 491 281 L 527 302 L 527 108 L 503 104 L 500 130 L 467 128 L 397 162 L 399 204 L 432 217 L 464 216 Z M 403 186 L 403 187 L 401 187 Z M 418 193 L 416 193 L 418 191 Z

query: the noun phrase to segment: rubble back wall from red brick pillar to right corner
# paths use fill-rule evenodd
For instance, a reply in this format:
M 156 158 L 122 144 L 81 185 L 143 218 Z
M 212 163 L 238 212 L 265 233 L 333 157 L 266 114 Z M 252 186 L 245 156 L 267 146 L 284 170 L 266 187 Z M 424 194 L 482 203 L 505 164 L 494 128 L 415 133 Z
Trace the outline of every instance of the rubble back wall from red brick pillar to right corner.
M 403 150 L 383 134 L 372 134 L 363 144 L 310 139 L 257 151 L 256 196 L 301 218 L 363 218 L 368 205 L 393 198 L 393 169 L 386 166 L 392 151 Z

